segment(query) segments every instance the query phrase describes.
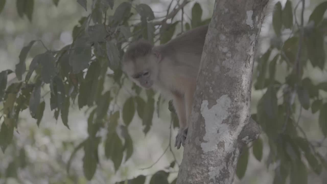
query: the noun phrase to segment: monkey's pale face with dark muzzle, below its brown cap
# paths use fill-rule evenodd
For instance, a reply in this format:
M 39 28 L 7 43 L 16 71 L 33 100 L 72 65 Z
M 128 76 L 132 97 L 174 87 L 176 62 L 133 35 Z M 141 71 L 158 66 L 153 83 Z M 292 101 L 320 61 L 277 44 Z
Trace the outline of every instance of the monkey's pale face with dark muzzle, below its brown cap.
M 137 58 L 134 62 L 124 64 L 124 71 L 136 84 L 149 89 L 158 78 L 157 59 L 152 55 Z

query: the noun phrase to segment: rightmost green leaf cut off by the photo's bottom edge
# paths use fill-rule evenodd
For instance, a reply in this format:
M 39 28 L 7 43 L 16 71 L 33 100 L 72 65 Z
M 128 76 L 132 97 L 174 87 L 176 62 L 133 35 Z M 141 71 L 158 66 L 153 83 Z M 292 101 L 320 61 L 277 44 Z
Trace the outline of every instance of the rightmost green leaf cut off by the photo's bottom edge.
M 307 184 L 308 173 L 301 160 L 297 160 L 291 169 L 290 184 Z

